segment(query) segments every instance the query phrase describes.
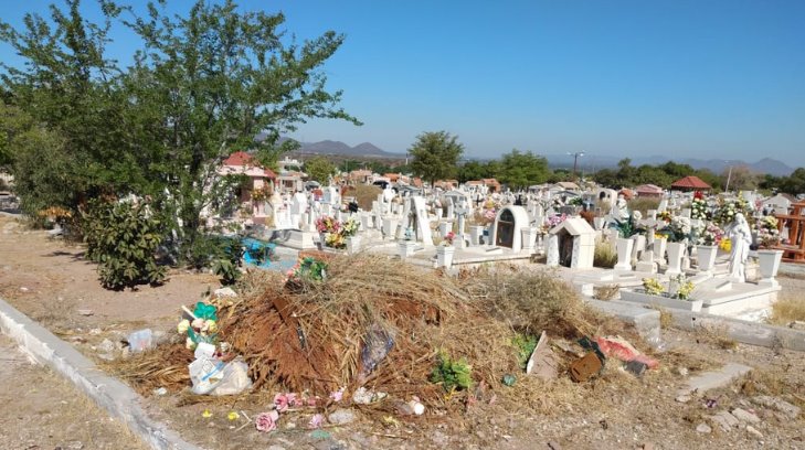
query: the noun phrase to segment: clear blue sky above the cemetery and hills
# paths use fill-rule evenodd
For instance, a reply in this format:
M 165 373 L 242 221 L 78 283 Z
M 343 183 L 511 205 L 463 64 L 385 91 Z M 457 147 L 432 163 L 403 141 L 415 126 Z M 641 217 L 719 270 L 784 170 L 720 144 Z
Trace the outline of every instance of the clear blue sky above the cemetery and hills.
M 17 24 L 47 3 L 3 2 L 0 17 Z M 476 158 L 516 148 L 805 167 L 805 1 L 239 3 L 284 11 L 298 39 L 347 35 L 325 69 L 366 125 L 311 121 L 300 140 L 403 152 L 446 130 Z M 119 36 L 110 50 L 125 60 L 135 44 Z M 0 57 L 13 61 L 6 46 Z

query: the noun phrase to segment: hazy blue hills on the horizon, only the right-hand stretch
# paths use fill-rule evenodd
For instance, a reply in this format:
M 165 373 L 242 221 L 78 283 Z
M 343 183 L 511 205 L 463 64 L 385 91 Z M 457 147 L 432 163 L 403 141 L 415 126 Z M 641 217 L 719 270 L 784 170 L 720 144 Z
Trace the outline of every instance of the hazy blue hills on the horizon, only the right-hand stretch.
M 585 154 L 579 158 L 579 168 L 583 171 L 599 170 L 599 169 L 613 169 L 617 167 L 617 162 L 622 158 L 616 157 L 604 157 L 597 154 Z M 548 163 L 554 168 L 572 168 L 573 157 L 568 154 L 548 154 L 546 156 Z M 661 156 L 649 156 L 649 157 L 637 157 L 632 158 L 632 165 L 638 167 L 643 164 L 658 165 L 671 161 L 668 157 Z M 693 169 L 708 169 L 713 173 L 720 174 L 724 170 L 728 170 L 730 165 L 739 167 L 745 165 L 751 171 L 758 173 L 769 173 L 775 176 L 787 176 L 794 172 L 794 169 L 785 164 L 784 162 L 777 161 L 771 158 L 763 158 L 762 160 L 753 163 L 748 163 L 741 160 L 730 160 L 729 162 L 721 159 L 701 160 L 696 158 L 688 158 L 682 160 L 676 160 L 680 164 L 689 164 Z

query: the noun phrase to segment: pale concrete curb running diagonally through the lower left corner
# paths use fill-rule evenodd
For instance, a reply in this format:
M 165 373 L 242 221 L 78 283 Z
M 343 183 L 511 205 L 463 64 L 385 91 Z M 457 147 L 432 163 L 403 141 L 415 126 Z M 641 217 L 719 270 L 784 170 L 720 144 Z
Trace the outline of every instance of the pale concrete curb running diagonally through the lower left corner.
M 140 406 L 140 396 L 66 342 L 0 299 L 0 331 L 13 339 L 39 363 L 71 381 L 109 415 L 121 420 L 152 449 L 201 450 L 184 441 L 165 424 L 152 420 Z

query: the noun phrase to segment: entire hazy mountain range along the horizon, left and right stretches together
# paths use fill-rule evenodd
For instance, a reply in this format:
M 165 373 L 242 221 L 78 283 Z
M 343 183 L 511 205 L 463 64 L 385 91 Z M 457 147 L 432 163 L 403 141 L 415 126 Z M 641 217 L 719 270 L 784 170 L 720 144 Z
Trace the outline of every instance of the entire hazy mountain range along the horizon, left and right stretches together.
M 354 147 L 350 147 L 341 141 L 324 140 L 319 142 L 300 142 L 301 148 L 297 151 L 304 154 L 330 154 L 330 156 L 342 156 L 342 157 L 363 157 L 363 158 L 405 158 L 405 153 L 394 153 L 382 150 L 378 146 L 371 142 L 359 143 Z M 548 164 L 551 168 L 572 168 L 573 157 L 569 154 L 544 154 L 548 160 Z M 613 169 L 617 167 L 617 162 L 624 157 L 607 157 L 599 154 L 585 154 L 579 157 L 578 169 L 580 171 L 595 171 L 599 169 Z M 486 160 L 478 158 L 478 160 Z M 756 173 L 769 173 L 775 176 L 787 176 L 794 169 L 784 162 L 777 161 L 772 158 L 763 158 L 756 162 L 745 162 L 741 160 L 722 160 L 722 159 L 681 159 L 672 160 L 668 157 L 652 156 L 652 157 L 635 157 L 632 158 L 631 164 L 633 167 L 639 167 L 643 164 L 658 165 L 664 164 L 668 161 L 675 161 L 680 164 L 689 164 L 693 169 L 708 169 L 713 173 L 720 174 L 729 169 L 737 167 L 746 167 L 751 171 Z

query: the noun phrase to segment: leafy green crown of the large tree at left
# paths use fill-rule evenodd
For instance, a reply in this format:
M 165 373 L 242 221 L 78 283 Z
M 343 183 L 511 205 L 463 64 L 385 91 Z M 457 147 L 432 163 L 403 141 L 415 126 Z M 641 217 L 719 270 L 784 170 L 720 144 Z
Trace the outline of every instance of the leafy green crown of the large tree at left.
M 340 92 L 326 89 L 321 69 L 343 35 L 297 43 L 285 35 L 282 13 L 199 0 L 176 17 L 161 3 L 140 13 L 102 0 L 103 23 L 95 24 L 82 18 L 78 0 L 66 0 L 65 9 L 51 8 L 50 20 L 28 14 L 22 30 L 0 23 L 0 41 L 25 61 L 3 65 L 0 76 L 7 103 L 60 142 L 49 148 L 68 156 L 60 201 L 75 211 L 102 195 L 151 195 L 156 213 L 181 225 L 174 227 L 188 249 L 201 212 L 231 193 L 216 173 L 229 154 L 255 150 L 271 163 L 295 146 L 279 142 L 280 133 L 308 118 L 360 122 L 338 106 Z M 104 56 L 117 20 L 141 41 L 126 68 Z M 33 195 L 20 194 L 23 203 Z

